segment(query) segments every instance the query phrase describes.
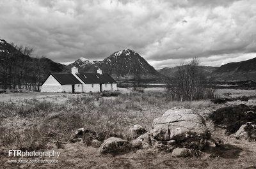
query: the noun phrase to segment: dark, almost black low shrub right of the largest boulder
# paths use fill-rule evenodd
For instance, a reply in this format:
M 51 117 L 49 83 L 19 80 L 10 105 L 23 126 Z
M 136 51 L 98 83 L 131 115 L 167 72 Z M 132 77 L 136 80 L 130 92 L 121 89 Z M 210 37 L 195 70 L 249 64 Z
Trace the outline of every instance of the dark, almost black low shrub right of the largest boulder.
M 249 113 L 248 113 L 249 112 Z M 250 113 L 251 112 L 251 113 Z M 246 122 L 256 123 L 256 107 L 244 104 L 234 107 L 223 107 L 212 112 L 210 118 L 216 125 L 224 125 L 228 134 L 235 133 Z

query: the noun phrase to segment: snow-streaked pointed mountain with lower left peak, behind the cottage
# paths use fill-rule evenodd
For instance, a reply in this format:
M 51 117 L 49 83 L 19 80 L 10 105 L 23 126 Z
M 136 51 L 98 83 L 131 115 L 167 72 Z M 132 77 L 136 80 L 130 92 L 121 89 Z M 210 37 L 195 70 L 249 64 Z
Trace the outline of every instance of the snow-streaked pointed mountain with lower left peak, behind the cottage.
M 90 61 L 81 57 L 68 65 L 70 68 L 76 66 L 79 71 L 97 72 L 98 68 L 104 73 L 109 73 L 116 79 L 133 78 L 140 74 L 142 78 L 163 77 L 143 57 L 131 49 L 119 50 L 103 61 Z

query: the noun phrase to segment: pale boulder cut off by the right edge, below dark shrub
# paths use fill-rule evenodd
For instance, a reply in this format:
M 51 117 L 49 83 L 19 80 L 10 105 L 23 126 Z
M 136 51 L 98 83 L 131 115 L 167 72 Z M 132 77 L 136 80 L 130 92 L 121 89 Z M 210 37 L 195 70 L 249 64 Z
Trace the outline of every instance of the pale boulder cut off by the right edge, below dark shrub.
M 247 122 L 243 124 L 236 132 L 235 137 L 237 139 L 255 140 L 256 139 L 256 124 Z

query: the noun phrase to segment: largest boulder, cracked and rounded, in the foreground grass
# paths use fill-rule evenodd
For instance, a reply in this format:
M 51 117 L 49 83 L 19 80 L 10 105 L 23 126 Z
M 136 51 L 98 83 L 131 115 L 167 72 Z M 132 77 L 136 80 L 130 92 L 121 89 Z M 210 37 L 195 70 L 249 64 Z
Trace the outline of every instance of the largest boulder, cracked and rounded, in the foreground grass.
M 155 147 L 172 151 L 176 147 L 203 149 L 211 137 L 202 116 L 193 109 L 173 108 L 154 119 L 150 131 Z

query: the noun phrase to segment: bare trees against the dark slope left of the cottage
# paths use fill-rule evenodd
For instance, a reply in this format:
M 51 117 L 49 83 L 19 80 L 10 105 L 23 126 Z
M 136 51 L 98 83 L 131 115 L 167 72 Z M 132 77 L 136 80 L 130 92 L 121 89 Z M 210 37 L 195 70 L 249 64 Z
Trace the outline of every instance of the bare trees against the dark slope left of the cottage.
M 10 43 L 0 52 L 0 85 L 3 89 L 39 90 L 49 73 L 45 57 L 31 57 L 33 48 Z

